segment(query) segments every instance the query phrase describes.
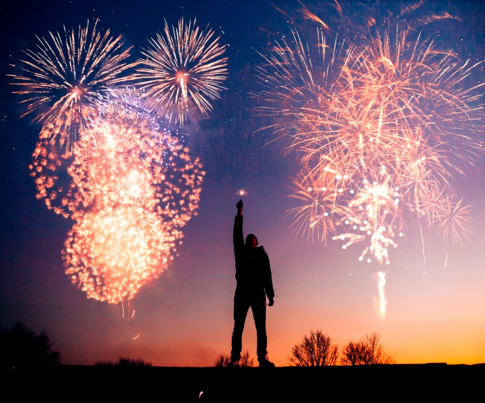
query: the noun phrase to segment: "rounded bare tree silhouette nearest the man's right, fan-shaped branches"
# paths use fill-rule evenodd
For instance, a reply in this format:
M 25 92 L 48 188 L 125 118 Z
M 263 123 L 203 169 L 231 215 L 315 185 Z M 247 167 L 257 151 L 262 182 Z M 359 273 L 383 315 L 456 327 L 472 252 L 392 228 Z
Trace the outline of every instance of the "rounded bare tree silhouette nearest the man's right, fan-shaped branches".
M 310 336 L 303 336 L 300 344 L 292 348 L 292 356 L 288 357 L 290 365 L 296 367 L 322 367 L 336 365 L 338 347 L 332 345 L 330 336 L 321 330 L 310 331 Z

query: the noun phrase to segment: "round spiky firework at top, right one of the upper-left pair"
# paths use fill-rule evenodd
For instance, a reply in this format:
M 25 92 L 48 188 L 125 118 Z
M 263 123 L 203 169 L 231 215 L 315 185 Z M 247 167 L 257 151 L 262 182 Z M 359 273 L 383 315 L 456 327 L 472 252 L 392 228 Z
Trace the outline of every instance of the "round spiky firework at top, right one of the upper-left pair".
M 220 98 L 222 82 L 227 75 L 227 58 L 222 58 L 225 46 L 214 31 L 201 30 L 196 20 L 172 26 L 165 22 L 163 33 L 149 40 L 140 59 L 143 66 L 133 78 L 145 92 L 147 107 L 163 117 L 183 125 L 187 117 L 198 113 L 208 115 L 211 101 Z

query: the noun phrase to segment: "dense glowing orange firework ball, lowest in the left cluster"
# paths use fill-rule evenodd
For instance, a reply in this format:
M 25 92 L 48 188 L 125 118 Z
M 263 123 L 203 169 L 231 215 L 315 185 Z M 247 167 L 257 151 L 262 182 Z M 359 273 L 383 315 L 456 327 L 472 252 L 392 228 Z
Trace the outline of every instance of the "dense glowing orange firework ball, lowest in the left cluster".
M 163 272 L 173 242 L 160 217 L 141 207 L 89 212 L 65 242 L 66 274 L 88 298 L 117 304 Z

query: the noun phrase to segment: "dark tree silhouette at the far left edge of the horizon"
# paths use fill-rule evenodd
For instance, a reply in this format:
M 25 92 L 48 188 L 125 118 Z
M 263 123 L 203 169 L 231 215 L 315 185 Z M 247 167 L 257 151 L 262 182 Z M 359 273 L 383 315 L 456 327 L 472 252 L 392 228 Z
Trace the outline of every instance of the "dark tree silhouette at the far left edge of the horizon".
M 45 329 L 35 334 L 18 322 L 12 329 L 0 332 L 0 343 L 4 348 L 0 362 L 6 369 L 57 365 L 61 362 L 61 355 L 52 349 L 54 343 Z

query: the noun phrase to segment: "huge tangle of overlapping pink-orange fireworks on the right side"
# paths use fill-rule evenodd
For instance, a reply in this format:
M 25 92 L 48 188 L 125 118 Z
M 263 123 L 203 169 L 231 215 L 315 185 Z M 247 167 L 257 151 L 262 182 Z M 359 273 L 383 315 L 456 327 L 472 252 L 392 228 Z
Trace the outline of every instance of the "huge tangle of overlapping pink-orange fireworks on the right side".
M 306 19 L 314 16 L 302 7 Z M 288 139 L 286 150 L 301 158 L 290 195 L 301 203 L 289 211 L 296 233 L 321 242 L 334 234 L 347 240 L 343 248 L 368 239 L 359 259 L 370 253 L 386 264 L 397 229 L 402 235 L 416 217 L 421 233 L 423 220 L 453 243 L 468 237 L 469 206 L 448 199 L 484 148 L 484 84 L 467 85 L 481 62 L 463 63 L 415 35 L 414 23 L 403 28 L 390 18 L 365 20 L 367 34 L 352 43 L 351 35 L 327 40 L 328 27 L 311 17 L 316 46 L 296 31 L 276 42 L 258 68 L 262 89 L 255 94 L 260 115 L 272 119 L 264 128 Z M 449 18 L 431 15 L 422 23 Z M 393 24 L 394 32 L 379 31 Z M 385 175 L 375 175 L 381 167 Z M 350 230 L 338 233 L 342 225 Z

